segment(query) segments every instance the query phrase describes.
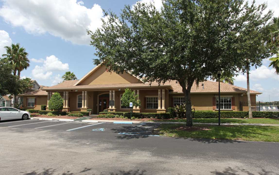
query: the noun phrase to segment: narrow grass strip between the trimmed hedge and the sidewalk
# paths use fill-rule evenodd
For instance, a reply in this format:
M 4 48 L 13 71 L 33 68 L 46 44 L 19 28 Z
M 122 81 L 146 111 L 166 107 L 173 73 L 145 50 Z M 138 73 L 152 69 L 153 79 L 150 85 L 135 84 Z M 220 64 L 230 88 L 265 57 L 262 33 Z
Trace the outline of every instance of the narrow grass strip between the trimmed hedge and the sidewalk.
M 175 122 L 186 122 L 186 119 L 172 119 L 172 120 L 161 120 L 161 121 L 175 121 Z M 221 118 L 221 123 L 264 123 L 264 124 L 279 124 L 279 118 Z M 218 123 L 218 118 L 213 119 L 193 119 L 193 123 Z

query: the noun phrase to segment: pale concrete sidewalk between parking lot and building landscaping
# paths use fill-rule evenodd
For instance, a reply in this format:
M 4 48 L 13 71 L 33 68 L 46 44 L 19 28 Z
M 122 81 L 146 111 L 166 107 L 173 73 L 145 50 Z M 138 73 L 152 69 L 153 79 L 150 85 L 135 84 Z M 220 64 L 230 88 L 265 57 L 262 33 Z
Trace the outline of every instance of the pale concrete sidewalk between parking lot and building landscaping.
M 65 120 L 64 118 L 41 118 L 41 117 L 33 117 L 34 119 L 53 119 L 53 120 Z M 75 120 L 75 121 L 81 121 L 79 118 L 76 119 L 68 119 L 68 120 Z M 92 120 L 92 119 L 86 119 L 82 120 L 84 122 L 121 122 L 121 123 L 166 123 L 166 124 L 186 124 L 186 122 L 169 122 L 169 121 L 131 121 L 131 120 Z M 218 125 L 218 123 L 193 123 L 193 124 L 206 124 L 206 125 Z M 248 125 L 248 126 L 279 126 L 279 124 L 263 124 L 263 123 L 220 123 L 220 125 Z

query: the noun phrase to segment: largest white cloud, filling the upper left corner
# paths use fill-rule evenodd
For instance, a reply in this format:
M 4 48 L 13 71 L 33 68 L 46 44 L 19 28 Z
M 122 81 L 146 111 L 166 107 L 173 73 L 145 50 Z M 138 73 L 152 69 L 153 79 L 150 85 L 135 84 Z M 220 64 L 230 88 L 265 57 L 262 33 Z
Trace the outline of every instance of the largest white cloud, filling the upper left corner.
M 3 4 L 0 16 L 7 23 L 34 35 L 48 32 L 73 44 L 88 45 L 86 29 L 94 31 L 102 24 L 98 4 L 91 9 L 76 0 L 4 0 Z

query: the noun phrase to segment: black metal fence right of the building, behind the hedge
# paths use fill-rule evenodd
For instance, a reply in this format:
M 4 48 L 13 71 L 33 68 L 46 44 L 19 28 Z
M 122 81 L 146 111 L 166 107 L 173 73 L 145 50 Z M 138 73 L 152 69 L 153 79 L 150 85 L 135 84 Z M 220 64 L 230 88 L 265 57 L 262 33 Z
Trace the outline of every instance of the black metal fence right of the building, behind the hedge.
M 239 102 L 240 111 L 248 111 L 248 102 Z M 279 111 L 279 102 L 251 102 L 252 111 Z

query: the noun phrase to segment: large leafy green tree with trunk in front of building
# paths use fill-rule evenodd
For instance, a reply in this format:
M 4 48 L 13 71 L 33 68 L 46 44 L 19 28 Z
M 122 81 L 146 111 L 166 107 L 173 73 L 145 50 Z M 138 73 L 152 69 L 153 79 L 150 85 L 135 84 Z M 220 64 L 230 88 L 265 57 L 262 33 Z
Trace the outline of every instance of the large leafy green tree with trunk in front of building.
M 105 11 L 102 27 L 88 31 L 97 50 L 93 62 L 116 73 L 131 71 L 145 82 L 176 80 L 185 96 L 187 126 L 193 126 L 193 84 L 219 69 L 233 75 L 238 70 L 238 34 L 248 18 L 242 4 L 242 0 L 164 0 L 161 12 L 151 3 L 139 2 L 133 9 L 125 6 L 120 17 Z

